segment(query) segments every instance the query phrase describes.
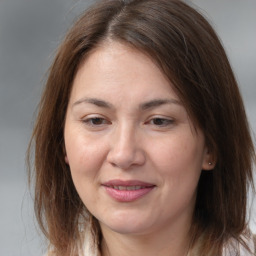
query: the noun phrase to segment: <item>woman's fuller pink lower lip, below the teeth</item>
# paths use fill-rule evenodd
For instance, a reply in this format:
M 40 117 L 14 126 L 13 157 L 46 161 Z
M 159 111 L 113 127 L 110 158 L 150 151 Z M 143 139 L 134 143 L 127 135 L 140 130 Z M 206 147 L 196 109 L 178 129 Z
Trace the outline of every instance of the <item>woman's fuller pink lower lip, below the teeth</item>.
M 147 187 L 137 190 L 118 190 L 112 187 L 105 187 L 107 193 L 119 202 L 132 202 L 147 195 L 154 187 Z

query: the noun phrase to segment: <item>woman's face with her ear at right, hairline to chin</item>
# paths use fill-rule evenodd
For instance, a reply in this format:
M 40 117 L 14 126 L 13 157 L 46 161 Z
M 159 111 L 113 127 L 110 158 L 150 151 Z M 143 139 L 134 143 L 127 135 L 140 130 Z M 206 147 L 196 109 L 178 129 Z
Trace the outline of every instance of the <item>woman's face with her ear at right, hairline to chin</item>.
M 143 53 L 106 44 L 80 66 L 65 123 L 66 162 L 103 230 L 188 226 L 210 155 L 200 129 Z

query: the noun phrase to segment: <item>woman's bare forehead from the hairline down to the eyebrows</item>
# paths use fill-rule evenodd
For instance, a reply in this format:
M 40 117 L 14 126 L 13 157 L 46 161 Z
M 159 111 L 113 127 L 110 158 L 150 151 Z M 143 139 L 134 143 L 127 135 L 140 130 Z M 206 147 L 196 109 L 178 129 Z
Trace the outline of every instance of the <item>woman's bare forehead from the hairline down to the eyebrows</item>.
M 80 64 L 69 106 L 81 102 L 107 103 L 112 109 L 129 112 L 148 109 L 145 106 L 148 103 L 151 106 L 152 102 L 158 106 L 171 102 L 172 108 L 182 107 L 186 111 L 173 84 L 155 61 L 144 52 L 118 42 L 93 49 Z

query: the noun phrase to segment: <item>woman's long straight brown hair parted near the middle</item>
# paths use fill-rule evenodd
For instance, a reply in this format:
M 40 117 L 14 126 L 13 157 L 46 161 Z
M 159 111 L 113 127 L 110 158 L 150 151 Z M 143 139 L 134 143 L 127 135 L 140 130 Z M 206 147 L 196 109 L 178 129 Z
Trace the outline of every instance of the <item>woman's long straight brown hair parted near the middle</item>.
M 50 68 L 28 150 L 34 148 L 35 212 L 55 255 L 76 255 L 79 222 L 97 221 L 73 185 L 64 155 L 64 121 L 79 64 L 106 40 L 149 55 L 174 85 L 216 159 L 202 171 L 191 227 L 191 253 L 221 255 L 229 239 L 242 242 L 255 152 L 225 51 L 209 23 L 176 0 L 101 1 L 74 24 Z M 31 159 L 31 158 L 30 158 Z M 200 244 L 199 244 L 199 241 Z M 73 253 L 74 252 L 74 253 Z

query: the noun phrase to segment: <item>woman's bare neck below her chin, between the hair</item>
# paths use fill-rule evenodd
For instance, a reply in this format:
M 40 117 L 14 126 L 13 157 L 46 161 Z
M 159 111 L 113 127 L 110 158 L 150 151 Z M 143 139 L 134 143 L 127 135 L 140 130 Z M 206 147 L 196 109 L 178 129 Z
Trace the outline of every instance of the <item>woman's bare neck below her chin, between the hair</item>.
M 189 226 L 188 226 L 189 227 Z M 189 249 L 189 230 L 170 233 L 165 228 L 153 235 L 120 234 L 102 229 L 102 256 L 186 256 Z

